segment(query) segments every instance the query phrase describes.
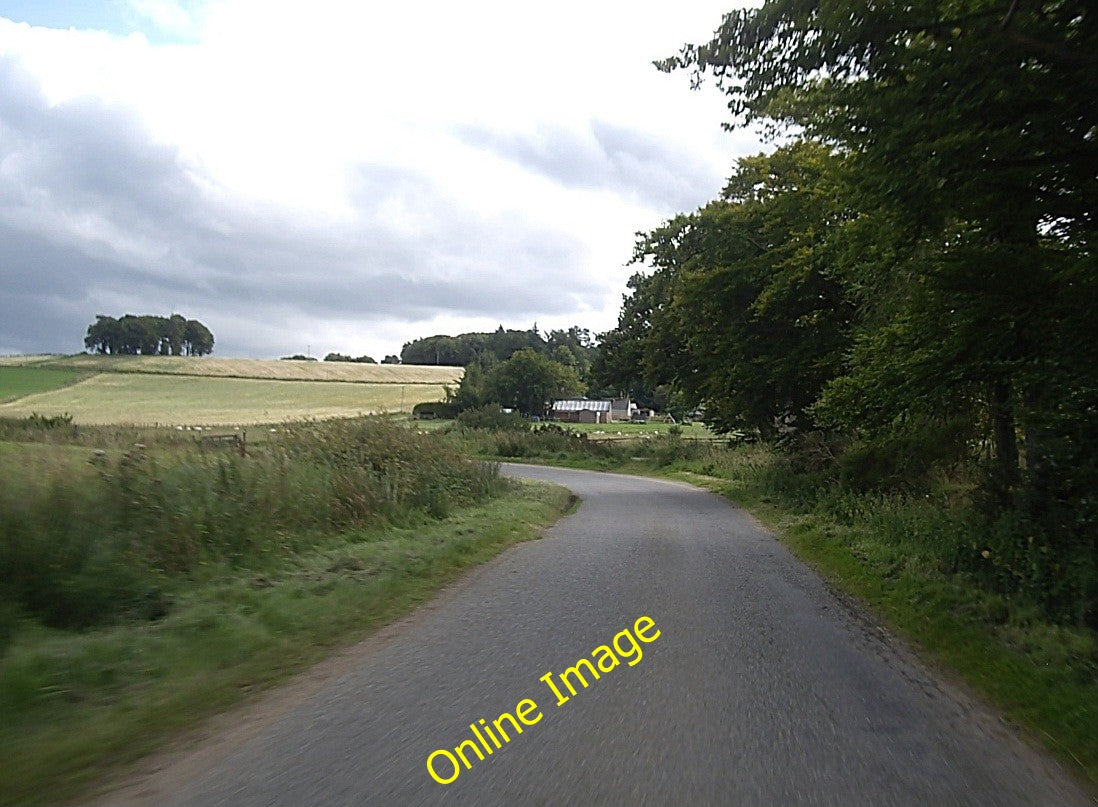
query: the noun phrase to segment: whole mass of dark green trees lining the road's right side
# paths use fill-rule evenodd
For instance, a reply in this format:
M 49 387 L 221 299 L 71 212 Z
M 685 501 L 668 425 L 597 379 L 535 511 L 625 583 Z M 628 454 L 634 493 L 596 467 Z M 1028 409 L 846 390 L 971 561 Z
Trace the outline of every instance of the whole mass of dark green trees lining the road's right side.
M 822 435 L 856 489 L 970 469 L 994 546 L 957 563 L 1098 626 L 1096 54 L 1084 3 L 732 11 L 660 66 L 795 139 L 639 238 L 596 376 Z

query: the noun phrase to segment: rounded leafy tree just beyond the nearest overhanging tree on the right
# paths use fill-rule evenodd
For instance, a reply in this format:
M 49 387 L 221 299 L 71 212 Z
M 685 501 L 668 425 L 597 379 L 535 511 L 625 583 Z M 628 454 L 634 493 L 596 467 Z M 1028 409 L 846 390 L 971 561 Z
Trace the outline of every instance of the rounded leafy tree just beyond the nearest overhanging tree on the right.
M 596 380 L 671 385 L 718 430 L 809 425 L 853 313 L 829 262 L 852 217 L 838 167 L 803 142 L 742 159 L 721 199 L 643 235 L 652 272 L 630 280 Z

